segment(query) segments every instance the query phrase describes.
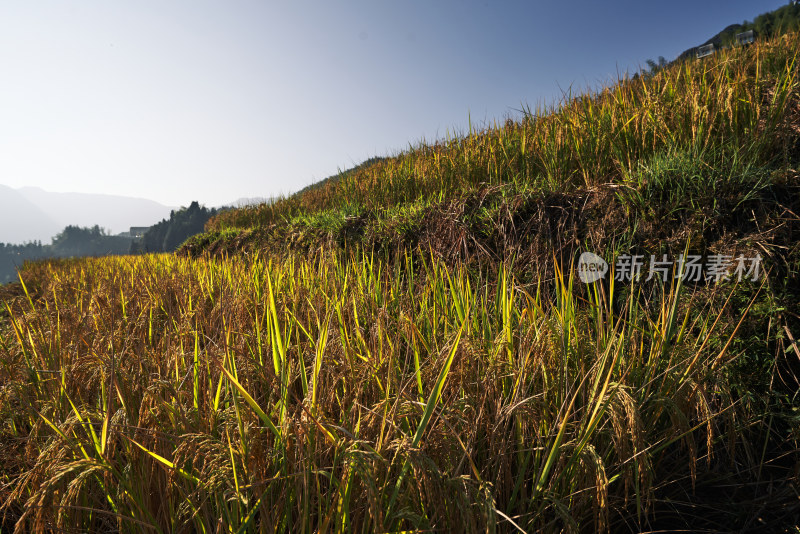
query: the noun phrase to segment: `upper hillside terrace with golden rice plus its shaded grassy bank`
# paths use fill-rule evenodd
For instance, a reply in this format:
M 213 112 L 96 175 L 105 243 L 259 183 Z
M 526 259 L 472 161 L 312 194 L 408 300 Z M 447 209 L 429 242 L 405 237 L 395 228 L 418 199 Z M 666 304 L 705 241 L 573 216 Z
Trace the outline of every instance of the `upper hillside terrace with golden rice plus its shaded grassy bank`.
M 277 204 L 223 214 L 185 251 L 357 242 L 462 260 L 527 254 L 523 263 L 538 271 L 575 240 L 651 252 L 687 236 L 703 252 L 763 241 L 758 224 L 798 213 L 796 51 L 791 36 L 722 52 L 420 146 Z M 788 234 L 775 237 L 762 244 L 790 244 Z

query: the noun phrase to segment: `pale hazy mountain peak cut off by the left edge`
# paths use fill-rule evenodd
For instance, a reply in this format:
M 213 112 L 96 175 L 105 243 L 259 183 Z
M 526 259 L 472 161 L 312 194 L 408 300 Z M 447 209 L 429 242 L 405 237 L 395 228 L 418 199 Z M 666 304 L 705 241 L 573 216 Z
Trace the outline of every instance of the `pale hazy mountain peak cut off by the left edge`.
M 0 243 L 49 243 L 62 228 L 19 191 L 0 185 Z

